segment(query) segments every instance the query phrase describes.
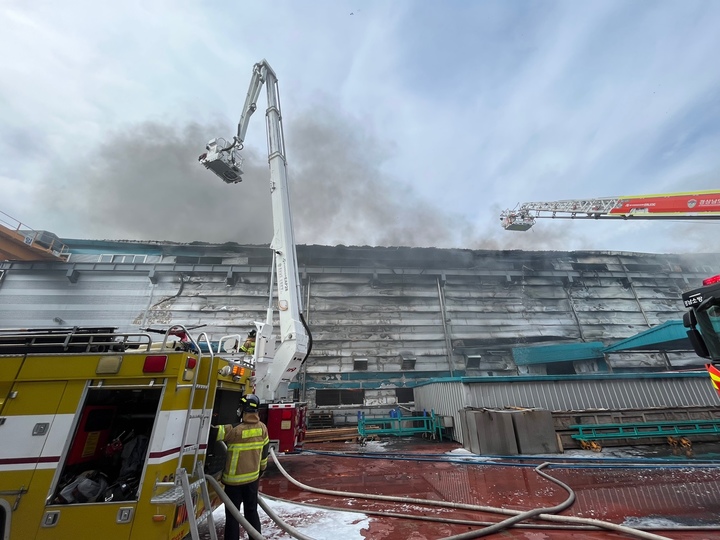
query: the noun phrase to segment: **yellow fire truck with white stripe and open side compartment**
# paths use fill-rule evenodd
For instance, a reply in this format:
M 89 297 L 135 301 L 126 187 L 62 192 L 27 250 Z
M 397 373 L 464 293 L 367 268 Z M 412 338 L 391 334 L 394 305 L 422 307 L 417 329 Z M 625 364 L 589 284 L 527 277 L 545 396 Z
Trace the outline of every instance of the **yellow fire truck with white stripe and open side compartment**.
M 211 424 L 252 391 L 241 339 L 0 331 L 0 539 L 196 537 L 218 504 Z

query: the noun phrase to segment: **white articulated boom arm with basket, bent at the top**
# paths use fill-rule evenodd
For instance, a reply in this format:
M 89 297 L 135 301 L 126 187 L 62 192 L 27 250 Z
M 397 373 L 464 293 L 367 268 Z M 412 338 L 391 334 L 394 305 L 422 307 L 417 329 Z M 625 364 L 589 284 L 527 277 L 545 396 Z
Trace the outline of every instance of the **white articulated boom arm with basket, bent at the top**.
M 277 276 L 280 346 L 276 349 L 276 337 L 273 334 L 271 276 L 270 306 L 266 320 L 264 323 L 255 323 L 258 329 L 255 347 L 255 392 L 262 401 L 278 401 L 289 399 L 288 385 L 298 374 L 308 354 L 310 336 L 301 319 L 302 295 L 290 214 L 280 94 L 277 76 L 266 60 L 253 67 L 250 88 L 233 142 L 228 144 L 223 139 L 213 139 L 206 147 L 207 153 L 201 155 L 199 160 L 227 183 L 242 180 L 242 158 L 239 151 L 242 149 L 250 117 L 257 109 L 257 99 L 263 84 L 267 89 L 268 101 L 265 116 L 274 232 L 270 248 L 273 250 Z

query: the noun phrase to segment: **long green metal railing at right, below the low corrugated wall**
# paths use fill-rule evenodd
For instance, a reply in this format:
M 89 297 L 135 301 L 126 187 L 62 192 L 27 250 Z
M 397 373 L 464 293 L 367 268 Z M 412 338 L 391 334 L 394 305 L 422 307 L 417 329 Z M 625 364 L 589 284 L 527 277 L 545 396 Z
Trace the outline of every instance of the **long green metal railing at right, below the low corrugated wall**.
M 578 430 L 578 433 L 571 435 L 571 437 L 579 441 L 720 435 L 720 419 L 633 422 L 627 424 L 576 424 L 568 427 Z

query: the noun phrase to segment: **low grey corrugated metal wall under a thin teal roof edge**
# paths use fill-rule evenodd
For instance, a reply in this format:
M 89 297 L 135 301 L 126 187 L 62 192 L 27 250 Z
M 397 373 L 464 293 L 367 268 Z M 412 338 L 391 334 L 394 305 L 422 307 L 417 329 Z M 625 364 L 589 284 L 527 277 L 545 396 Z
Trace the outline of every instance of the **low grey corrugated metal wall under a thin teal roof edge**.
M 641 378 L 642 377 L 642 378 Z M 629 378 L 567 377 L 542 380 L 437 382 L 415 388 L 417 409 L 452 416 L 455 440 L 463 442 L 459 411 L 465 407 L 525 407 L 553 412 L 651 408 L 720 407 L 720 397 L 702 373 Z M 472 379 L 470 380 L 472 381 Z

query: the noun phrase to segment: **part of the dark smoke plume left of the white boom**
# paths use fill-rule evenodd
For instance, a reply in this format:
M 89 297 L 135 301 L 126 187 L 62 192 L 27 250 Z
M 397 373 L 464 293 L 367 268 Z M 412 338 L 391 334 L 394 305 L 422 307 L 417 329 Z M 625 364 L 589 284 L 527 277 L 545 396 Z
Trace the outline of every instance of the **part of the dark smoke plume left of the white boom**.
M 129 126 L 66 171 L 65 185 L 48 183 L 48 191 L 85 238 L 268 243 L 267 159 L 246 151 L 244 180 L 232 185 L 198 163 L 209 139 L 232 135 L 218 125 Z

